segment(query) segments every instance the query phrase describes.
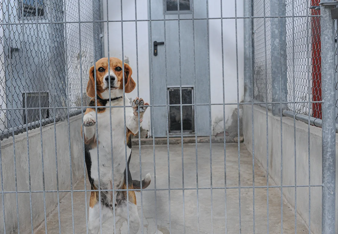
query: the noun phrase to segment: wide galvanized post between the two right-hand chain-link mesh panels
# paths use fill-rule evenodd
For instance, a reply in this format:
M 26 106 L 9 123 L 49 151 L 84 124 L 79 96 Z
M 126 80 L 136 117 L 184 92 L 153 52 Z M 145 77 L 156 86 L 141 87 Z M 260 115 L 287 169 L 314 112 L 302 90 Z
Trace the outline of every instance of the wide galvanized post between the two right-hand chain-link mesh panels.
M 285 0 L 270 1 L 271 16 L 285 16 Z M 286 18 L 271 18 L 271 86 L 272 102 L 287 101 Z M 287 104 L 272 104 L 272 114 L 280 115 Z

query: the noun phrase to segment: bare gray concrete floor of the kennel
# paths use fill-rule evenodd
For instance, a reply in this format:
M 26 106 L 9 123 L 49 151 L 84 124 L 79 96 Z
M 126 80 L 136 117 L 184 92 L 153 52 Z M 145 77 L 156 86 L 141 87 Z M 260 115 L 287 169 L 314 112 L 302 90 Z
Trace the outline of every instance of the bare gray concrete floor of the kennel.
M 132 178 L 140 176 L 140 161 L 138 146 L 133 146 L 133 156 L 130 163 Z M 143 191 L 143 200 L 137 193 L 139 216 L 143 224 L 138 233 L 147 234 L 196 234 L 254 233 L 253 191 L 242 188 L 240 191 L 241 222 L 239 220 L 239 189 L 224 187 L 224 145 L 212 145 L 212 209 L 211 190 L 198 190 L 198 210 L 196 193 L 196 151 L 194 144 L 184 145 L 184 187 L 193 188 L 182 191 L 182 154 L 180 145 L 169 145 L 170 151 L 170 188 L 180 189 L 170 191 L 170 212 L 168 190 Z M 154 189 L 154 156 L 153 146 L 141 147 L 142 176 L 150 172 L 152 181 L 148 189 Z M 166 145 L 155 145 L 156 189 L 168 189 L 168 153 Z M 226 145 L 226 183 L 227 187 L 238 187 L 238 145 Z M 241 186 L 252 186 L 252 156 L 243 144 L 240 145 L 240 182 Z M 210 188 L 210 145 L 198 144 L 198 186 Z M 255 186 L 266 186 L 266 172 L 255 163 Z M 87 179 L 87 188 L 89 182 Z M 269 179 L 269 185 L 274 185 Z M 84 189 L 84 180 L 80 180 L 74 190 Z M 156 196 L 156 204 L 155 204 Z M 89 204 L 90 192 L 87 193 Z M 184 198 L 184 207 L 183 207 Z M 226 213 L 225 213 L 226 199 Z M 281 233 L 281 192 L 278 188 L 269 188 L 269 216 L 267 219 L 267 189 L 255 189 L 255 233 Z M 61 233 L 86 233 L 85 193 L 73 192 L 74 224 L 72 222 L 71 194 L 67 194 L 60 202 Z M 126 221 L 116 218 L 116 234 L 128 233 Z M 199 222 L 198 222 L 199 220 Z M 297 215 L 296 233 L 308 233 L 303 220 Z M 108 220 L 102 225 L 102 233 L 114 233 L 114 220 Z M 269 224 L 269 225 L 267 225 Z M 48 234 L 59 233 L 58 209 L 48 216 Z M 45 224 L 34 233 L 45 233 Z M 283 233 L 295 233 L 294 209 L 283 200 Z

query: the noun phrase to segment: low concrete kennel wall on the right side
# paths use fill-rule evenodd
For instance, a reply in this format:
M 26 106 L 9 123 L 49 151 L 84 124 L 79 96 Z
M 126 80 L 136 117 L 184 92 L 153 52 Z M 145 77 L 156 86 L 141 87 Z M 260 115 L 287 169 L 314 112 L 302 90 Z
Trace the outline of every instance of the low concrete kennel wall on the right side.
M 276 185 L 281 185 L 281 119 L 272 116 L 269 111 L 254 106 L 254 144 L 252 144 L 251 106 L 243 107 L 243 136 L 247 149 L 252 153 L 254 146 L 255 159 L 268 170 Z M 266 121 L 267 119 L 267 121 Z M 268 157 L 266 146 L 266 125 L 268 124 Z M 295 184 L 295 152 L 296 183 L 309 185 L 309 150 L 310 144 L 310 177 L 311 185 L 321 185 L 321 128 L 310 126 L 310 143 L 308 143 L 308 124 L 296 120 L 296 149 L 294 150 L 294 123 L 292 118 L 282 119 L 283 140 L 283 185 Z M 338 134 L 336 134 L 336 150 L 338 150 Z M 337 167 L 338 161 L 336 161 Z M 338 174 L 337 174 L 338 175 Z M 337 178 L 336 178 L 337 179 Z M 337 180 L 338 181 L 338 180 Z M 271 182 L 270 182 L 271 184 Z M 295 189 L 283 188 L 283 195 L 289 203 L 295 205 Z M 336 195 L 338 190 L 336 187 Z M 337 204 L 336 204 L 337 206 Z M 297 212 L 309 224 L 309 187 L 297 188 Z M 336 209 L 337 213 L 337 209 Z M 337 218 L 337 215 L 336 215 Z M 337 221 L 336 221 L 337 224 Z M 321 187 L 311 187 L 311 231 L 321 233 Z

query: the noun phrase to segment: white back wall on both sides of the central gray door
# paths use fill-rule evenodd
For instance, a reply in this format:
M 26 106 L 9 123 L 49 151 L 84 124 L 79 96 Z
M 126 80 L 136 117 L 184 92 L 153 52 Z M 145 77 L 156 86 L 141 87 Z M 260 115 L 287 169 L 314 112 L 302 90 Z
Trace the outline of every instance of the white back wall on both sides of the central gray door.
M 123 1 L 123 20 L 135 20 L 135 0 Z M 137 1 L 137 19 L 148 19 L 148 0 Z M 103 0 L 103 19 L 107 19 L 106 0 Z M 237 0 L 237 16 L 243 16 L 243 0 Z M 220 2 L 209 1 L 209 17 L 220 17 Z M 223 0 L 223 17 L 235 17 L 235 1 Z M 121 20 L 120 1 L 108 0 L 108 19 Z M 221 20 L 210 20 L 210 77 L 211 77 L 211 102 L 223 102 L 222 90 L 222 53 L 221 53 Z M 148 22 L 137 23 L 138 40 L 138 65 L 139 65 L 139 90 L 140 96 L 150 101 L 149 89 L 149 33 Z M 108 56 L 107 42 L 109 41 L 110 57 L 122 58 L 121 22 L 109 23 L 109 40 L 107 39 L 107 27 L 104 26 L 104 56 Z M 243 100 L 243 20 L 237 20 L 238 42 L 238 81 L 239 102 Z M 223 20 L 223 44 L 224 44 L 224 86 L 225 103 L 237 103 L 237 67 L 236 67 L 236 33 L 235 20 Z M 129 65 L 133 69 L 133 79 L 136 81 L 136 34 L 135 22 L 123 22 L 123 51 L 128 57 Z M 134 98 L 137 89 L 128 95 Z M 232 123 L 233 111 L 237 105 L 225 106 L 226 126 Z M 237 112 L 236 112 L 237 116 Z M 223 130 L 223 105 L 212 106 L 213 133 Z M 221 122 L 220 122 L 221 121 Z M 237 121 L 237 119 L 236 119 Z M 150 111 L 144 116 L 143 128 L 149 129 Z

